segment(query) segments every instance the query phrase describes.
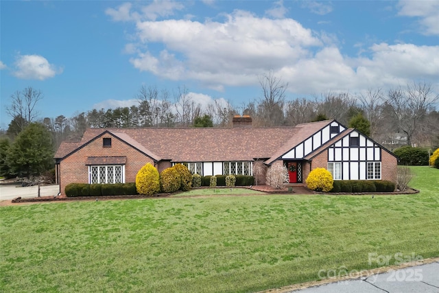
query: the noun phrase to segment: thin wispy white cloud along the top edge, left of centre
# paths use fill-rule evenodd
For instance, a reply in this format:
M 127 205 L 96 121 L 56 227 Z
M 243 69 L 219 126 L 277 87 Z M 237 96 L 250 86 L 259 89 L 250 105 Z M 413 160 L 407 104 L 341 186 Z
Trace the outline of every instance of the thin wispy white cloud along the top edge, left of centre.
M 111 16 L 113 21 L 155 21 L 158 17 L 167 17 L 174 15 L 174 11 L 183 10 L 185 6 L 177 1 L 160 1 L 154 0 L 149 5 L 141 6 L 140 11 L 131 11 L 132 3 L 123 3 L 115 8 L 107 8 L 105 13 Z

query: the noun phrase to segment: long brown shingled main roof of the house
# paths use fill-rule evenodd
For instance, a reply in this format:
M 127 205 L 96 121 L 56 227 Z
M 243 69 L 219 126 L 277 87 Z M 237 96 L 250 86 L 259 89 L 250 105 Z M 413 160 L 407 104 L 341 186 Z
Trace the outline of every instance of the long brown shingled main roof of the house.
M 274 159 L 331 121 L 279 128 L 89 128 L 76 148 L 108 131 L 157 161 Z M 74 150 L 71 147 L 63 143 L 56 158 L 67 156 Z

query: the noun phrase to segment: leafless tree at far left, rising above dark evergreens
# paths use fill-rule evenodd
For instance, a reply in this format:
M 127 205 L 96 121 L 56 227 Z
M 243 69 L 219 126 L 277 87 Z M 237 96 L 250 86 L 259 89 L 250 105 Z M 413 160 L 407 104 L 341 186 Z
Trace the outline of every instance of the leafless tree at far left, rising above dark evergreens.
M 43 99 L 43 93 L 32 88 L 32 86 L 27 86 L 23 91 L 16 91 L 11 95 L 11 105 L 6 107 L 6 113 L 15 121 L 15 123 L 21 130 L 25 126 L 38 117 L 38 111 L 35 106 Z

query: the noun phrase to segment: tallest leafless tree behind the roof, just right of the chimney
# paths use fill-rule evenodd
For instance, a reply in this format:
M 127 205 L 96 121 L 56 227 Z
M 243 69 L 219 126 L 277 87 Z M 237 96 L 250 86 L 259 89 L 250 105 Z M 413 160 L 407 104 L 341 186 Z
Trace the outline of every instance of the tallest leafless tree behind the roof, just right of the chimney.
M 265 126 L 281 126 L 288 83 L 282 82 L 282 79 L 277 78 L 270 70 L 268 74 L 259 76 L 259 84 L 263 97 L 259 103 L 258 111 Z

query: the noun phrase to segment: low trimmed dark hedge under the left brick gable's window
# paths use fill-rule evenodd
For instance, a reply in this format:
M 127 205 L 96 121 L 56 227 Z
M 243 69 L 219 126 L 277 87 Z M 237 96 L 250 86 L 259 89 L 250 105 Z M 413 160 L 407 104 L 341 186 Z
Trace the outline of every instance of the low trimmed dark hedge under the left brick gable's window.
M 137 194 L 136 183 L 86 184 L 70 183 L 65 189 L 66 196 L 121 196 Z

